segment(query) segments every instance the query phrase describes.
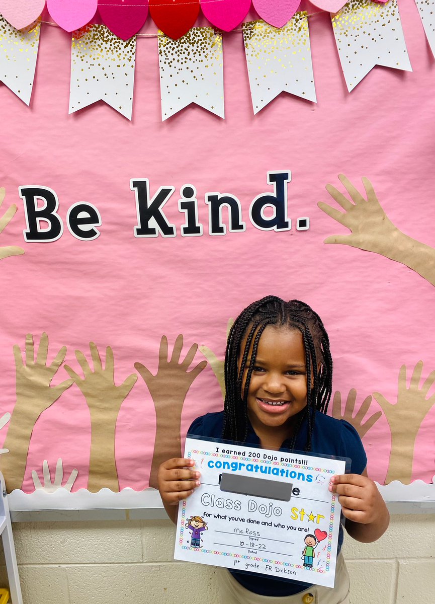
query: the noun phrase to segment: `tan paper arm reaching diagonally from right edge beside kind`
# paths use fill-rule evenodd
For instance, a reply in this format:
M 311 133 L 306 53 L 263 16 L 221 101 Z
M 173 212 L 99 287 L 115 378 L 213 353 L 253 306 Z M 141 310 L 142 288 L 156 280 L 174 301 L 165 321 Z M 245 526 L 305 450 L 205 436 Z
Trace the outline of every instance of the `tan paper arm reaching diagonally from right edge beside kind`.
M 338 205 L 340 212 L 323 201 L 317 204 L 325 214 L 347 226 L 350 235 L 333 235 L 325 243 L 344 243 L 354 248 L 366 249 L 400 262 L 435 285 L 435 249 L 408 237 L 389 219 L 379 204 L 369 179 L 363 178 L 367 200 L 346 176 L 338 175 L 352 201 L 330 184 L 326 190 Z

